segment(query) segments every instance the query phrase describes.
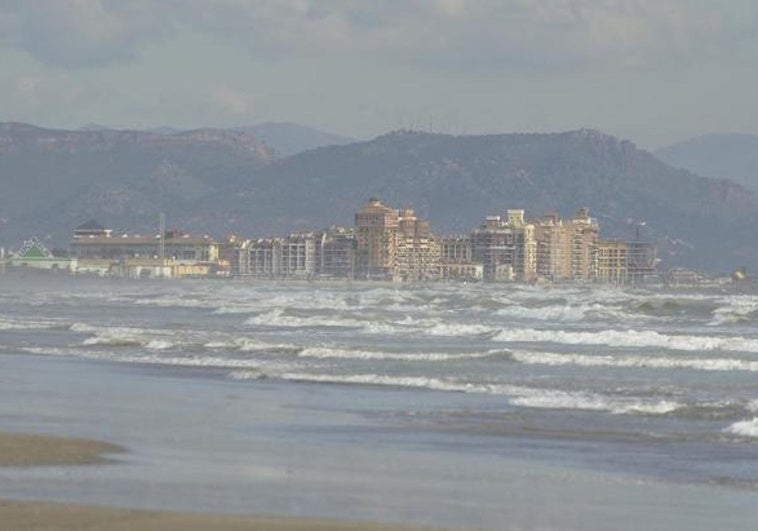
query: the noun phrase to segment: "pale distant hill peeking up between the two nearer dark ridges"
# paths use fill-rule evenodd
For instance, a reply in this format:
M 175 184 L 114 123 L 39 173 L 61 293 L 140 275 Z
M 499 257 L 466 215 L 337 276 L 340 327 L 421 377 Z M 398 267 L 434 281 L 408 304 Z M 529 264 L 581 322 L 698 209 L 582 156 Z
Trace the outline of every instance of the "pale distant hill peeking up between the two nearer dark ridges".
M 234 130 L 260 138 L 282 157 L 288 157 L 309 149 L 355 142 L 354 138 L 334 135 L 289 122 L 266 122 L 249 127 L 236 127 Z

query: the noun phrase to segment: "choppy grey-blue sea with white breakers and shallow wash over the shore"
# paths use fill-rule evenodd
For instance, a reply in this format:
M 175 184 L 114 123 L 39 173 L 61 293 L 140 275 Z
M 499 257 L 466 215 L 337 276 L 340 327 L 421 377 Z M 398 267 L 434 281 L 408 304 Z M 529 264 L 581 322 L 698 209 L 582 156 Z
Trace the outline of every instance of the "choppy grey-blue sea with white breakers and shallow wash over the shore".
M 758 288 L 0 275 L 0 498 L 449 529 L 758 529 Z

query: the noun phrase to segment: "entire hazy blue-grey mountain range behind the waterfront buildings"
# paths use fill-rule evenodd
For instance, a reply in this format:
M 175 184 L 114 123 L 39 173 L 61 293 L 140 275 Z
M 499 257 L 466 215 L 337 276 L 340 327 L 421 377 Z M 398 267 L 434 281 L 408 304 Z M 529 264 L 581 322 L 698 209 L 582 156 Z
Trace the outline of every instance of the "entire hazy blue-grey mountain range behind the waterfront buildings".
M 666 265 L 729 271 L 758 260 L 758 196 L 675 169 L 593 131 L 452 136 L 399 131 L 278 156 L 247 131 L 63 131 L 0 124 L 0 245 L 39 234 L 65 247 L 95 218 L 150 233 L 221 237 L 351 225 L 370 196 L 411 206 L 437 233 L 491 214 L 570 216 L 590 207 L 604 237 L 655 241 Z

